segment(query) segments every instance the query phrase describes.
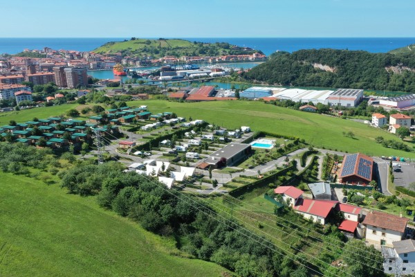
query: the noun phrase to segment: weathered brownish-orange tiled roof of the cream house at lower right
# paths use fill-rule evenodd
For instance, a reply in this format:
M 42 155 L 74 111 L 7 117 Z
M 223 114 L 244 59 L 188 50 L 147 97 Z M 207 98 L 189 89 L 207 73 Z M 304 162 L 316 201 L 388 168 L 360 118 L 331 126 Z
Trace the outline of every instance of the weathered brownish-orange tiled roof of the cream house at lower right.
M 406 217 L 372 211 L 366 215 L 363 225 L 371 225 L 404 233 L 408 221 L 409 219 Z

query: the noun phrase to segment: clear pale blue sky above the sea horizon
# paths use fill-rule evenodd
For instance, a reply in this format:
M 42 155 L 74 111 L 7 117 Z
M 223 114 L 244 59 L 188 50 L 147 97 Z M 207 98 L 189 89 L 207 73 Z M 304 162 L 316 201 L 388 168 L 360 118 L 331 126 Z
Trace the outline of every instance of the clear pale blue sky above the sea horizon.
M 415 37 L 413 0 L 0 0 L 0 37 Z

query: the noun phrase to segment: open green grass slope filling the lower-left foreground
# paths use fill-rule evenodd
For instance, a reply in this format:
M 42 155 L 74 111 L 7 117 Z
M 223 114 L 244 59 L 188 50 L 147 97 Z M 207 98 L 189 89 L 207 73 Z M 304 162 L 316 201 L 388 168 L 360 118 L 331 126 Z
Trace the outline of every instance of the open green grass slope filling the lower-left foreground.
M 95 197 L 0 173 L 0 276 L 221 276 Z

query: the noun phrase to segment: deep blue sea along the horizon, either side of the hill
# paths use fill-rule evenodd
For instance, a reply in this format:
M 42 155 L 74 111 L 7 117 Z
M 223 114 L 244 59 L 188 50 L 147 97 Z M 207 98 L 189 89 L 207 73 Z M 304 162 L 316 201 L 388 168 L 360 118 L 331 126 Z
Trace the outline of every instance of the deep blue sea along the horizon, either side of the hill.
M 415 43 L 415 37 L 182 37 L 192 42 L 228 42 L 261 50 L 270 55 L 275 51 L 335 48 L 382 53 Z M 127 37 L 0 37 L 0 54 L 16 54 L 44 47 L 55 50 L 91 51 L 106 42 L 122 42 Z

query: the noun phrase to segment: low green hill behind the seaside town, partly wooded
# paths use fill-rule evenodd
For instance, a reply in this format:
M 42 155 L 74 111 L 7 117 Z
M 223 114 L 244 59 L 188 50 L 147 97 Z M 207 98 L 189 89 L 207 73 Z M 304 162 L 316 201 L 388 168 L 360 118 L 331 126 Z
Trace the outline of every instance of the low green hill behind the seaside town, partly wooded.
M 188 56 L 219 56 L 219 55 L 241 55 L 252 54 L 255 51 L 228 44 L 227 42 L 216 42 L 214 44 L 204 42 L 190 42 L 185 39 L 138 39 L 131 38 L 124 42 L 108 42 L 95 50 L 94 53 L 114 54 L 122 53 L 133 57 L 151 56 L 165 57 L 172 55 L 181 57 Z

